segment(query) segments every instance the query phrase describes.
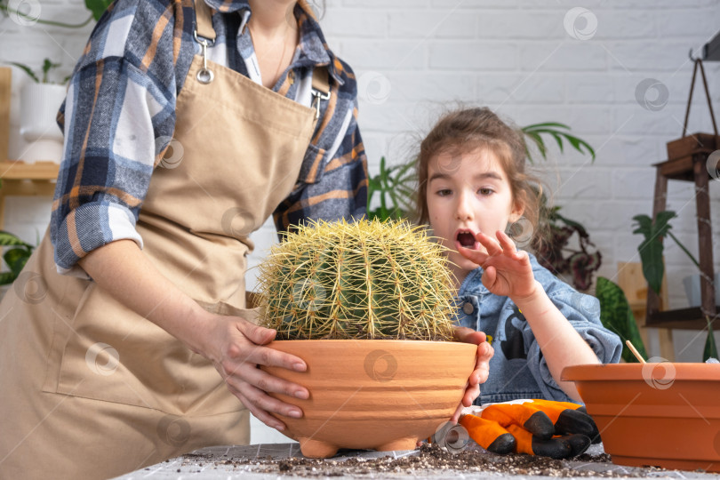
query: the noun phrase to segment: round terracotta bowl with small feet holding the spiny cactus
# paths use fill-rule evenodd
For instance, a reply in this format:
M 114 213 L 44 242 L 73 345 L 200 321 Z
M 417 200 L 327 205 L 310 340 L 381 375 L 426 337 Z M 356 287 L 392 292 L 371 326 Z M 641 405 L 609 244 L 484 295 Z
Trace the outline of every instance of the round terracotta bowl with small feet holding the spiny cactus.
M 308 388 L 308 400 L 271 394 L 304 413 L 278 417 L 306 457 L 338 449 L 413 450 L 450 420 L 476 362 L 476 345 L 417 340 L 281 340 L 306 372 L 262 367 Z

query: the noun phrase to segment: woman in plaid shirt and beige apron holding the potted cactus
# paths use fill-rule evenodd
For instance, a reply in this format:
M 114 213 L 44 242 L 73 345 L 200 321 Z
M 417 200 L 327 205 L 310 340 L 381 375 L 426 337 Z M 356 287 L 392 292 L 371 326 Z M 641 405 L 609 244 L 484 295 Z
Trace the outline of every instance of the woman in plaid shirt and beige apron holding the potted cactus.
M 116 476 L 301 416 L 258 368 L 306 366 L 262 347 L 248 236 L 357 218 L 367 187 L 355 77 L 308 5 L 118 0 L 59 119 L 50 232 L 0 308 L 0 476 Z

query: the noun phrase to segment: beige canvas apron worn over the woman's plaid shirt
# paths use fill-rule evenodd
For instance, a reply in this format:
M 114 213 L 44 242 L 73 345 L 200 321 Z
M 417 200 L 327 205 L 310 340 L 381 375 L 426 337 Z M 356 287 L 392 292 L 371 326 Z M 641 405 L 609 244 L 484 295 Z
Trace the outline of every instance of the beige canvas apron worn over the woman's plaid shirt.
M 197 8 L 198 32 L 214 37 L 209 8 Z M 196 56 L 137 229 L 183 292 L 252 319 L 248 235 L 298 180 L 316 111 L 219 65 L 203 84 L 203 66 Z M 116 476 L 249 441 L 249 413 L 212 364 L 92 281 L 58 275 L 48 235 L 0 318 L 2 478 Z

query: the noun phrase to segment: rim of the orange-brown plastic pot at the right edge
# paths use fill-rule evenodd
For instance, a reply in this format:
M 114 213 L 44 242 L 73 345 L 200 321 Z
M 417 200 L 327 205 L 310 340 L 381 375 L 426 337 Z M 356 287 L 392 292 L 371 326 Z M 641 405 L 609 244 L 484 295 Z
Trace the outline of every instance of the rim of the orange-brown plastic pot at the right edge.
M 582 364 L 565 367 L 560 374 L 560 380 L 634 380 L 644 381 L 644 378 L 655 368 L 668 370 L 674 380 L 720 380 L 720 364 L 702 363 L 676 363 L 653 362 L 647 364 Z

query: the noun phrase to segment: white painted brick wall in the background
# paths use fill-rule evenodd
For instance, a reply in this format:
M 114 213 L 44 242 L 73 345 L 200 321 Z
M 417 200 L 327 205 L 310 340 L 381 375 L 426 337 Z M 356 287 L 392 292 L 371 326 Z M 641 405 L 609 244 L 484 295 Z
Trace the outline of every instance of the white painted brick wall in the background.
M 83 5 L 82 0 L 44 0 L 43 18 L 82 20 Z M 577 40 L 564 28 L 565 13 L 577 6 L 597 20 L 588 40 Z M 720 0 L 327 0 L 321 10 L 328 43 L 367 84 L 360 92 L 360 124 L 372 172 L 380 156 L 390 162 L 412 156 L 437 112 L 460 102 L 487 104 L 520 125 L 570 124 L 596 148 L 596 162 L 554 151 L 552 159 L 536 166 L 556 186 L 566 215 L 585 224 L 603 252 L 601 275 L 612 278 L 618 261 L 638 260 L 640 237 L 632 235 L 630 219 L 652 211 L 651 165 L 665 159 L 665 143 L 682 128 L 692 71 L 688 50 L 720 28 Z M 576 28 L 585 27 L 578 20 Z M 62 61 L 65 74 L 90 28 L 22 28 L 2 19 L 0 60 L 37 66 L 50 56 Z M 720 63 L 706 64 L 706 73 L 720 120 Z M 384 84 L 368 82 L 378 74 Z M 668 87 L 667 105 L 658 111 L 636 101 L 636 86 L 645 78 Z M 382 85 L 389 85 L 387 98 L 378 98 Z M 652 94 L 648 100 L 654 100 Z M 695 98 L 690 131 L 710 132 L 701 91 L 696 89 Z M 11 156 L 19 151 L 14 132 Z M 717 242 L 720 182 L 712 182 L 710 193 Z M 671 182 L 668 194 L 668 208 L 681 215 L 675 231 L 697 253 L 692 188 Z M 36 229 L 42 233 L 49 202 L 13 199 L 7 208 L 12 212 L 6 228 L 28 240 L 35 239 Z M 259 254 L 253 263 L 275 236 L 268 226 L 255 239 Z M 682 276 L 692 267 L 671 242 L 666 260 L 671 307 L 684 307 Z M 720 251 L 715 260 L 720 268 Z M 683 352 L 678 359 L 699 360 L 704 337 L 686 347 L 693 337 L 676 332 L 676 350 Z M 657 346 L 651 347 L 657 354 Z

